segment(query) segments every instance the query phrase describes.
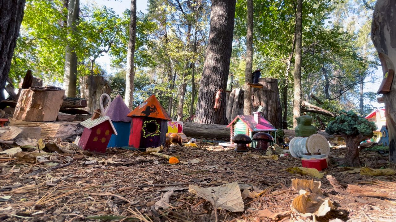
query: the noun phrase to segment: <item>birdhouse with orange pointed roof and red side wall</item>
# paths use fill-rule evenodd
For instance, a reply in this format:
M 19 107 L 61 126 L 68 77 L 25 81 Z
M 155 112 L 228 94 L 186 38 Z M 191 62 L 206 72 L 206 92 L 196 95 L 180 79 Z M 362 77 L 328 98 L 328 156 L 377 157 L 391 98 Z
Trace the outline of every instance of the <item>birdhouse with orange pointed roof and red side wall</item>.
M 129 147 L 144 150 L 165 145 L 171 119 L 154 95 L 133 109 L 128 117 L 132 118 Z

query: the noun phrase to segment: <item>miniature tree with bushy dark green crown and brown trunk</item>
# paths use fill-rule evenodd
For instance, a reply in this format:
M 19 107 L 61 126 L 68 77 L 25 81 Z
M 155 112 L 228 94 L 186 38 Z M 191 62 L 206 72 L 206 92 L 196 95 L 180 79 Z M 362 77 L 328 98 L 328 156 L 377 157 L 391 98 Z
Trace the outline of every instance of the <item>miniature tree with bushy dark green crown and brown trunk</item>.
M 361 166 L 359 145 L 363 140 L 373 137 L 374 130 L 377 130 L 374 122 L 369 122 L 353 111 L 341 111 L 341 115 L 329 123 L 326 133 L 338 134 L 345 138 L 347 151 L 343 164 Z

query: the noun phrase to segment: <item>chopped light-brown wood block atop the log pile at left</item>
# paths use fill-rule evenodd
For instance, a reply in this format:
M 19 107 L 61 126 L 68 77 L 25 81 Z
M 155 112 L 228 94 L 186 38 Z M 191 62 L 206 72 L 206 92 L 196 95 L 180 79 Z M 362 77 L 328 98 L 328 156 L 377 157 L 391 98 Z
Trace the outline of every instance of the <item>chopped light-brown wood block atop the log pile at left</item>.
M 13 119 L 34 122 L 55 121 L 64 97 L 65 90 L 56 87 L 23 89 Z

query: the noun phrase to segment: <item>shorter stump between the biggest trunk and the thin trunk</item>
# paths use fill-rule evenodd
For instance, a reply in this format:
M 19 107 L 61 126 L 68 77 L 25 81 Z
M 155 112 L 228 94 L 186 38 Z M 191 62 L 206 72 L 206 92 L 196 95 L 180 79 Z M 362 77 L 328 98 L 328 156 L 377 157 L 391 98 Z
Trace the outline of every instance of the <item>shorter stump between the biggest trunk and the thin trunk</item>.
M 233 88 L 230 93 L 227 92 L 226 117 L 228 123 L 234 120 L 237 115 L 244 114 L 244 94 L 245 91 L 240 88 Z

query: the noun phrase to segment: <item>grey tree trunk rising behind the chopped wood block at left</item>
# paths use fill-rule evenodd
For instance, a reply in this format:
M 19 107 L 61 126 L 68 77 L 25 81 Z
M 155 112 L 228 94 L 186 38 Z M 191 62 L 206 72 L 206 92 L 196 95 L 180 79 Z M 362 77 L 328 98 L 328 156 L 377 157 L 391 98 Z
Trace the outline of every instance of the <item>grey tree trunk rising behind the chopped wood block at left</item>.
M 80 13 L 80 0 L 70 0 L 67 10 L 67 28 L 70 38 L 74 38 Z M 66 90 L 67 97 L 76 97 L 77 54 L 74 51 L 75 46 L 71 43 L 72 41 L 69 39 L 69 44 L 66 46 L 65 75 L 63 77 L 63 88 Z

